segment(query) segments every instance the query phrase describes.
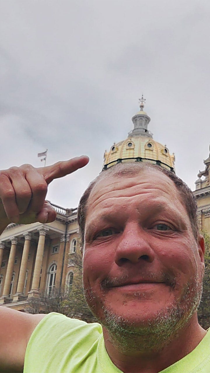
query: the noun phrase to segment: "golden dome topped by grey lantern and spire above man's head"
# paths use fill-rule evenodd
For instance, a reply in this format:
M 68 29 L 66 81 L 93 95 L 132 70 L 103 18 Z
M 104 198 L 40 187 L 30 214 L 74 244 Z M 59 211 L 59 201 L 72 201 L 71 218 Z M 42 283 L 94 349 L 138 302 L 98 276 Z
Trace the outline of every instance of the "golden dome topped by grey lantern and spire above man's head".
M 175 172 L 175 156 L 170 155 L 166 145 L 153 140 L 147 129 L 150 118 L 142 110 L 145 101 L 143 95 L 140 101 L 141 110 L 132 117 L 134 129 L 129 132 L 126 140 L 114 143 L 109 152 L 105 151 L 103 170 L 117 163 L 149 162 Z

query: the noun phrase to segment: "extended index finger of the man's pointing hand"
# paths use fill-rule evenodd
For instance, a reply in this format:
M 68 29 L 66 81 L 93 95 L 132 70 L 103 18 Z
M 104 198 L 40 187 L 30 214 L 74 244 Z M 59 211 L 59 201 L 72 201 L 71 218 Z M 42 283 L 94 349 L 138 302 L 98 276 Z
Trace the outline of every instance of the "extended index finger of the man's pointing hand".
M 60 161 L 51 166 L 40 167 L 39 172 L 44 176 L 47 184 L 50 184 L 54 179 L 62 178 L 70 173 L 86 166 L 89 162 L 89 157 L 75 157 L 68 161 Z

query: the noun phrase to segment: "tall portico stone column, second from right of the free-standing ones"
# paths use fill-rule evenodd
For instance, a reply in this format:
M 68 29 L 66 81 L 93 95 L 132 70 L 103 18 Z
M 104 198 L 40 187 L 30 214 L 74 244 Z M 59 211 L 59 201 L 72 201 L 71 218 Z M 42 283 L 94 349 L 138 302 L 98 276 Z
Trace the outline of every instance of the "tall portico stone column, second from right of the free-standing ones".
M 21 259 L 21 266 L 20 266 L 20 273 L 19 273 L 19 279 L 18 279 L 18 287 L 17 292 L 13 296 L 13 301 L 17 302 L 20 297 L 24 296 L 24 284 L 25 284 L 25 274 L 27 269 L 27 263 L 28 263 L 28 254 L 30 250 L 30 242 L 31 242 L 31 233 L 24 233 L 25 242 L 24 242 L 24 248 L 22 253 L 22 259 Z

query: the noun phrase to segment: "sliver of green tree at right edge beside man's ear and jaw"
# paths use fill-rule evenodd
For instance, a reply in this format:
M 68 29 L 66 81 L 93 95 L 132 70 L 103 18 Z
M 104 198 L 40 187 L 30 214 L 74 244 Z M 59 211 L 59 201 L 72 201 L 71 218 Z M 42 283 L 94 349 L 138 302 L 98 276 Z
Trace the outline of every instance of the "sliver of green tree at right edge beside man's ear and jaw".
M 208 329 L 210 327 L 210 236 L 206 230 L 202 230 L 201 234 L 204 236 L 206 251 L 203 294 L 198 308 L 198 322 L 204 329 Z

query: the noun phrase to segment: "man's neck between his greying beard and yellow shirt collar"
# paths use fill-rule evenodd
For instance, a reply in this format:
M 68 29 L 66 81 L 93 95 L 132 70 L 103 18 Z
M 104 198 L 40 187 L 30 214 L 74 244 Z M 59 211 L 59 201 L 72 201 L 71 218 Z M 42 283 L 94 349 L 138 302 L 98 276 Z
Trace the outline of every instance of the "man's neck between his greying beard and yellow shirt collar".
M 158 373 L 194 350 L 206 335 L 206 330 L 198 324 L 197 314 L 194 314 L 190 322 L 159 351 L 157 349 L 141 351 L 141 337 L 138 351 L 128 349 L 128 351 L 121 352 L 121 348 L 113 343 L 105 328 L 103 328 L 103 333 L 106 351 L 115 366 L 122 372 Z

